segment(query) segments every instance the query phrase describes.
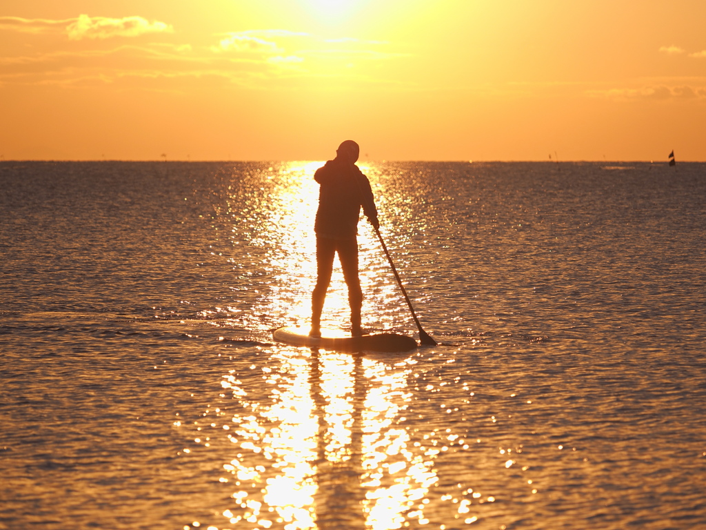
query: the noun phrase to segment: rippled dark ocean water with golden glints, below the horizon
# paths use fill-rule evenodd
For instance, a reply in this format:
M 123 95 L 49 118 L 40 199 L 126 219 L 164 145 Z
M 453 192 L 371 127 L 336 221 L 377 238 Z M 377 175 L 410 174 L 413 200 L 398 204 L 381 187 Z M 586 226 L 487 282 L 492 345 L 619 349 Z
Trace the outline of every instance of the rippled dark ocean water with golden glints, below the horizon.
M 0 529 L 706 527 L 706 164 L 361 163 L 374 355 L 320 164 L 0 163 Z

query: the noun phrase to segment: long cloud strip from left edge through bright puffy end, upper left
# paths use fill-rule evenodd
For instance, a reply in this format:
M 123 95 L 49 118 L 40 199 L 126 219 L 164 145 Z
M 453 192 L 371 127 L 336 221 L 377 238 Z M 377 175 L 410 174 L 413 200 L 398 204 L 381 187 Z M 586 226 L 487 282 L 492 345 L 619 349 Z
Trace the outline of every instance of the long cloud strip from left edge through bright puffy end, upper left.
M 70 40 L 107 39 L 109 37 L 137 37 L 145 33 L 172 33 L 174 28 L 159 20 L 150 22 L 141 16 L 108 18 L 79 15 L 65 20 L 47 18 L 0 17 L 0 30 L 21 33 L 66 33 Z

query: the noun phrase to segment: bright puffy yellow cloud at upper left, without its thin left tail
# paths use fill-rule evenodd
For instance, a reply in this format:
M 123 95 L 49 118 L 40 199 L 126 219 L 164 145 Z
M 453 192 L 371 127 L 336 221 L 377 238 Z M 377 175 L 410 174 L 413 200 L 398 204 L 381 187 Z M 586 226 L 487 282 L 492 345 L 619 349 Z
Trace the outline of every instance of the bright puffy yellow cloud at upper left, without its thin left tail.
M 137 37 L 145 33 L 172 33 L 171 25 L 155 20 L 149 22 L 141 16 L 126 16 L 123 18 L 106 18 L 79 15 L 76 21 L 66 26 L 68 38 L 107 39 L 109 37 Z

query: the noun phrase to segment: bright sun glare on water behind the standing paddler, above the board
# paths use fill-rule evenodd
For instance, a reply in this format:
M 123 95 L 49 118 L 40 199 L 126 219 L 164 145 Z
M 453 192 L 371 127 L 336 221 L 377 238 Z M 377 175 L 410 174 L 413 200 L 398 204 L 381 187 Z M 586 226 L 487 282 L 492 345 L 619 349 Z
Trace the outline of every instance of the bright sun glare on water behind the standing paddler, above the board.
M 313 174 L 323 162 L 290 162 L 256 170 L 248 185 L 228 188 L 223 216 L 234 216 L 235 208 L 245 222 L 227 225 L 234 242 L 229 259 L 240 279 L 249 283 L 239 290 L 254 296 L 249 311 L 233 307 L 217 308 L 204 314 L 228 314 L 227 322 L 214 325 L 236 326 L 270 334 L 272 323 L 307 329 L 311 324 L 311 293 L 316 285 L 316 235 L 314 221 L 318 209 L 319 186 Z M 369 176 L 381 218 L 394 211 L 394 201 L 385 200 L 384 179 L 375 164 L 361 164 Z M 247 193 L 246 206 L 240 194 Z M 240 205 L 240 206 L 239 206 Z M 405 225 L 405 208 L 394 215 Z M 381 225 L 383 237 L 390 223 Z M 404 235 L 397 235 L 404 245 Z M 244 245 L 241 245 L 244 243 Z M 359 278 L 363 289 L 363 326 L 381 331 L 409 324 L 409 314 L 376 233 L 364 216 L 358 225 Z M 401 261 L 404 264 L 404 261 Z M 334 336 L 350 331 L 348 289 L 340 261 L 335 257 L 333 274 L 326 293 L 321 324 Z

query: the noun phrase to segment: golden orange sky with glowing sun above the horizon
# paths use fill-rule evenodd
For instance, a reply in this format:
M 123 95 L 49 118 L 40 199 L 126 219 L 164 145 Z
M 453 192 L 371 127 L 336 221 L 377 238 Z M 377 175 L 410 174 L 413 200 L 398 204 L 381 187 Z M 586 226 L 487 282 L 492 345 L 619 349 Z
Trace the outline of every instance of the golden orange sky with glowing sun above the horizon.
M 704 0 L 4 0 L 0 155 L 706 160 Z

